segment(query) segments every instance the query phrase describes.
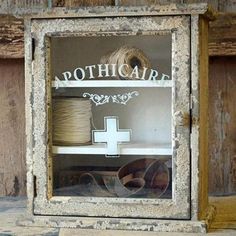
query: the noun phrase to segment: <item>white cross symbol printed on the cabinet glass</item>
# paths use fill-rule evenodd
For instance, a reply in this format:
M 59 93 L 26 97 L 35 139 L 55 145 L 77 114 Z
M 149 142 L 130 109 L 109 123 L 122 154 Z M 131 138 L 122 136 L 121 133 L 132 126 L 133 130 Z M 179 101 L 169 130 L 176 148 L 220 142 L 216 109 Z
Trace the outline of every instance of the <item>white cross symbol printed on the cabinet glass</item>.
M 106 156 L 118 156 L 118 144 L 130 141 L 131 130 L 120 130 L 116 116 L 104 117 L 104 127 L 105 130 L 93 130 L 93 143 L 107 143 Z

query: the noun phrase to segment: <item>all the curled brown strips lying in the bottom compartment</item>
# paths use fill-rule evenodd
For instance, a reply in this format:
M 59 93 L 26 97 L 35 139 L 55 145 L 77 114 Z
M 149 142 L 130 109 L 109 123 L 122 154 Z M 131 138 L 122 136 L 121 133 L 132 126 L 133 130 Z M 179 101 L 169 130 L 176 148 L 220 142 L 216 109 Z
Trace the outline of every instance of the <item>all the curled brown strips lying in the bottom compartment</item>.
M 83 172 L 77 185 L 57 189 L 57 193 L 63 190 L 83 196 L 159 198 L 170 182 L 167 160 L 167 157 L 137 159 L 120 167 L 117 173 Z

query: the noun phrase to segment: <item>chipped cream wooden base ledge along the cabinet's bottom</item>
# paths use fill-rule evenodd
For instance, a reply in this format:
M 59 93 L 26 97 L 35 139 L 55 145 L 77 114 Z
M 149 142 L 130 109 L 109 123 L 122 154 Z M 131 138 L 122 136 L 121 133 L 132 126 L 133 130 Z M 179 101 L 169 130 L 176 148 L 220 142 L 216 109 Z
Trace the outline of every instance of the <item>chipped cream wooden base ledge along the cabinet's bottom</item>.
M 207 224 L 204 221 L 192 220 L 26 216 L 24 219 L 19 220 L 17 224 L 20 226 L 47 226 L 54 228 L 78 228 L 98 230 L 134 230 L 189 233 L 207 232 Z

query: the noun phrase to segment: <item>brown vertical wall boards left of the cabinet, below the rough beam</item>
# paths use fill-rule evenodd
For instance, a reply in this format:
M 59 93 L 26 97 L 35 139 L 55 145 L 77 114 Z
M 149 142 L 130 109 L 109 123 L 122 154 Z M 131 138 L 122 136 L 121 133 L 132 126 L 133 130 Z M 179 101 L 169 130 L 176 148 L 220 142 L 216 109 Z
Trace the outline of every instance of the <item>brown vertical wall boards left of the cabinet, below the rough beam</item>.
M 0 59 L 0 195 L 25 195 L 24 60 Z

